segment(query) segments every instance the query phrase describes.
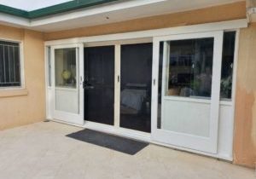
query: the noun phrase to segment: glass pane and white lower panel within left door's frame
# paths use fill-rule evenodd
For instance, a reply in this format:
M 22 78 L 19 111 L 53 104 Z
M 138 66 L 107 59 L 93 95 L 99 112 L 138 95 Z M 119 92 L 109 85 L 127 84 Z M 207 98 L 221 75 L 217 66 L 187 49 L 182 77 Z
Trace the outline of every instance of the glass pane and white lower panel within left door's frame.
M 76 48 L 55 49 L 55 109 L 79 113 L 79 92 L 76 90 Z

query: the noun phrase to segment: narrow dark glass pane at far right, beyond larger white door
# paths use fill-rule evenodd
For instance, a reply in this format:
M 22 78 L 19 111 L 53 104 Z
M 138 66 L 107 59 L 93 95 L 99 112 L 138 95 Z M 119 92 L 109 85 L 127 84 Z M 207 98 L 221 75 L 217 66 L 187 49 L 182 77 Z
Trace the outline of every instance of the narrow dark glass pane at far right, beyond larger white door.
M 232 94 L 235 40 L 236 32 L 224 32 L 220 99 L 226 101 L 230 101 Z

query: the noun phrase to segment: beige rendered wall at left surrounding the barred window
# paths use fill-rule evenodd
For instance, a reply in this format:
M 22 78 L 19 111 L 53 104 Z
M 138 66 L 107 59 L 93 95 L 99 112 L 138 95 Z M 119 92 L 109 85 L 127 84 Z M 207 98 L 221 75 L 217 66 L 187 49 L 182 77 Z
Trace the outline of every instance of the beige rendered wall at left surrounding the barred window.
M 0 39 L 23 42 L 25 68 L 25 90 L 0 90 L 0 130 L 44 120 L 43 34 L 0 26 Z

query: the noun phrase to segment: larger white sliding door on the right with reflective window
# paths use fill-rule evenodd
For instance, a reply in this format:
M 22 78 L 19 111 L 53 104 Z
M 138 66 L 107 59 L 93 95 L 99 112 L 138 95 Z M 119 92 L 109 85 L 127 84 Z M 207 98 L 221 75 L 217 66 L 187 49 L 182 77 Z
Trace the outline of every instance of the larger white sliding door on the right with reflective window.
M 223 32 L 154 38 L 154 141 L 217 153 Z

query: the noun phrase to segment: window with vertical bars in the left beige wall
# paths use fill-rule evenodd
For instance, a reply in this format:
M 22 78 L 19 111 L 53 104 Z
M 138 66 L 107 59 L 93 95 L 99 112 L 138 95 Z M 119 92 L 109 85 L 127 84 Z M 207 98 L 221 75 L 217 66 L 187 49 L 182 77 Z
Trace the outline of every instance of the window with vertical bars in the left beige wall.
M 20 43 L 0 41 L 0 87 L 20 86 Z

